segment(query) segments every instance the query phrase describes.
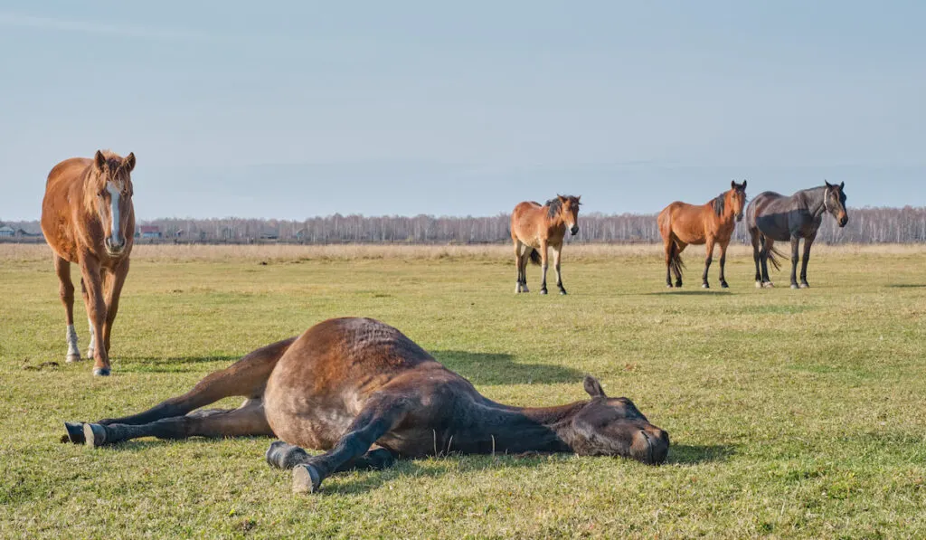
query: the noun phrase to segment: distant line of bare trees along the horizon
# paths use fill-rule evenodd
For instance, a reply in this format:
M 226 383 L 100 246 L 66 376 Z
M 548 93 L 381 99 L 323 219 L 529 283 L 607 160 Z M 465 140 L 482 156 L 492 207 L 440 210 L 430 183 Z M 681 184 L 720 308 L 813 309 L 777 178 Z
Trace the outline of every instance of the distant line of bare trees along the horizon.
M 508 220 L 507 214 L 485 218 L 335 214 L 304 221 L 161 219 L 142 221 L 144 229 L 140 227 L 136 233 L 142 237 L 142 242 L 497 244 L 510 241 Z M 7 221 L 6 225 L 15 230 L 40 232 L 38 221 Z M 571 242 L 645 244 L 660 241 L 654 214 L 582 214 L 579 225 L 581 231 L 569 239 Z M 745 223 L 737 225 L 735 238 L 748 243 Z M 829 216 L 824 218 L 818 242 L 926 242 L 926 207 L 850 208 L 849 223 L 844 229 L 836 226 Z

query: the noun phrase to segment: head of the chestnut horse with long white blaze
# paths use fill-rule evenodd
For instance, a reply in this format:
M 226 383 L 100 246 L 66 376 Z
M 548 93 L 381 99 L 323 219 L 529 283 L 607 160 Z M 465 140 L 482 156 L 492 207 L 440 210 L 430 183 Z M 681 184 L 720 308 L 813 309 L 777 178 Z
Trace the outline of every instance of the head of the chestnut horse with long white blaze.
M 108 151 L 96 151 L 91 166 L 87 193 L 88 206 L 99 217 L 104 230 L 103 245 L 110 256 L 118 256 L 126 246 L 131 215 L 131 170 L 135 155 L 119 157 Z

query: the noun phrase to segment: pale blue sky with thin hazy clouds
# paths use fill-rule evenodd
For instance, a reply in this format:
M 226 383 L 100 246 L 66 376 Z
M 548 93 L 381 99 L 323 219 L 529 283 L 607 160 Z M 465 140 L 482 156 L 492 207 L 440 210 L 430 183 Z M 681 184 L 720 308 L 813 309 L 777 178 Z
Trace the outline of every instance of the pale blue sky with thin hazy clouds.
M 141 220 L 583 211 L 845 182 L 926 205 L 926 2 L 0 6 L 0 220 L 137 157 Z

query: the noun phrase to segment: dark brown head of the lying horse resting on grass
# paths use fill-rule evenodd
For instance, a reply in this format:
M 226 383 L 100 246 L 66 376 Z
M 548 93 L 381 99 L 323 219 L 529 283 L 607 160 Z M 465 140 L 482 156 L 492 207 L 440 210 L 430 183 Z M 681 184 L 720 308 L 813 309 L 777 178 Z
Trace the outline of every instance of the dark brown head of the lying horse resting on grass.
M 608 397 L 601 383 L 585 377 L 592 400 L 572 419 L 572 450 L 581 456 L 623 456 L 658 465 L 669 455 L 669 433 L 649 423 L 626 397 Z

